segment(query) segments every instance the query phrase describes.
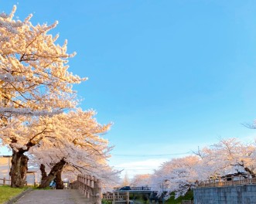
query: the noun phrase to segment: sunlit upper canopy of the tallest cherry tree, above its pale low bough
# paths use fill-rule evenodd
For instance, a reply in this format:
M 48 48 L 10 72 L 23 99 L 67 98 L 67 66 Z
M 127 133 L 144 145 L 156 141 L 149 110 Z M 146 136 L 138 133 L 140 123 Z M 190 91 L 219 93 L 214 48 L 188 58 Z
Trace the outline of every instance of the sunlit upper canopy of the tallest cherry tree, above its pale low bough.
M 10 14 L 0 15 L 0 113 L 54 114 L 77 105 L 74 83 L 86 78 L 68 71 L 67 40 L 62 46 L 48 26 L 32 25 L 29 15 L 24 21 Z

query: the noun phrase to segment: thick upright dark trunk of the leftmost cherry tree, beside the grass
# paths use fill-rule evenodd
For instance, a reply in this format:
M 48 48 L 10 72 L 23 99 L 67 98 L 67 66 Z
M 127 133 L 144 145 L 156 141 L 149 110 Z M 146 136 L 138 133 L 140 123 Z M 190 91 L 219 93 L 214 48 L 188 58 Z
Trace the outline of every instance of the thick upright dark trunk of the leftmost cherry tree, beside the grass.
M 10 171 L 11 186 L 22 188 L 26 185 L 26 172 L 29 158 L 19 151 L 12 150 L 12 167 Z

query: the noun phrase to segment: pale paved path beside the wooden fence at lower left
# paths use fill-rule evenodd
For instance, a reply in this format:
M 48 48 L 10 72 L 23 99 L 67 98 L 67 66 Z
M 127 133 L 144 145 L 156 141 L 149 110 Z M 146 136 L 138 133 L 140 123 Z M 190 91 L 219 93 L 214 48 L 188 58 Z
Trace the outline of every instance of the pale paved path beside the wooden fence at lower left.
M 15 204 L 84 204 L 85 197 L 77 190 L 33 190 Z

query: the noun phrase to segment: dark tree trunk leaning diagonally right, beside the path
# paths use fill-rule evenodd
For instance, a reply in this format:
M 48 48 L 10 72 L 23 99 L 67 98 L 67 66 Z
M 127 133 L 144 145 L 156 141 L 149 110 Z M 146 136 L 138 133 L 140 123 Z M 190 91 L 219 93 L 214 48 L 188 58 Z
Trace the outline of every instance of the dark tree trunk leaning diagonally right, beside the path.
M 44 179 L 41 180 L 41 184 L 39 185 L 39 189 L 46 188 L 49 186 L 49 183 L 53 181 L 53 179 L 56 177 L 56 174 L 67 164 L 67 162 L 64 159 L 61 159 L 60 162 L 56 163 L 52 170 L 49 172 L 49 175 L 47 175 Z M 42 170 L 41 170 L 42 171 Z

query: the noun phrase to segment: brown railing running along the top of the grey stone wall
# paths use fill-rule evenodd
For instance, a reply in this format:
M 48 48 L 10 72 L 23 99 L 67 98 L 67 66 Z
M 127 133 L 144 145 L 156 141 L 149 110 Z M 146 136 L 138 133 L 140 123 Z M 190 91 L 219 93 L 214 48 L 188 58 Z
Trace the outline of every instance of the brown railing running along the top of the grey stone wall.
M 216 179 L 209 179 L 207 181 L 200 181 L 197 183 L 196 187 L 221 187 L 229 185 L 247 185 L 247 184 L 256 184 L 256 175 L 247 174 L 247 175 L 231 175 L 225 177 L 219 177 Z

